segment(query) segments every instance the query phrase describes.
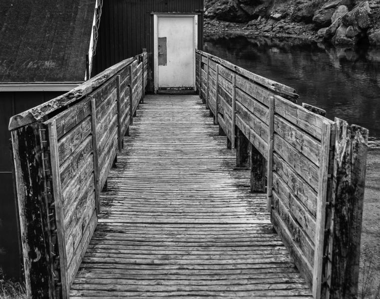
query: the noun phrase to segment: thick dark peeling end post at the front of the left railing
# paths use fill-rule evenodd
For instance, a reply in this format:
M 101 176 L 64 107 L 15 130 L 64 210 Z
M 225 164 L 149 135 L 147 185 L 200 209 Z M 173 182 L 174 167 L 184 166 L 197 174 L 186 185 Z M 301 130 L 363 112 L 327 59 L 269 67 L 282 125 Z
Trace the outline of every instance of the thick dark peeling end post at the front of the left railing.
M 52 240 L 54 198 L 49 198 L 47 190 L 51 167 L 42 154 L 48 136 L 42 139 L 41 131 L 45 129 L 36 122 L 11 131 L 12 153 L 27 298 L 53 299 L 60 292 L 55 280 L 60 261 L 57 242 Z

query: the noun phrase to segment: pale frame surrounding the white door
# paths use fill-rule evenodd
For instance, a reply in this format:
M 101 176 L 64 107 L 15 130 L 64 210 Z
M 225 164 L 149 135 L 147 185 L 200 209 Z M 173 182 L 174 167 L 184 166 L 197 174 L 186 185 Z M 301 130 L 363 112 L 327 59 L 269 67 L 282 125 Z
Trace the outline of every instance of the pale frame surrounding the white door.
M 154 57 L 154 93 L 158 91 L 158 17 L 193 17 L 193 85 L 194 91 L 197 90 L 195 84 L 195 50 L 198 49 L 198 14 L 184 13 L 154 13 L 153 14 L 153 57 Z

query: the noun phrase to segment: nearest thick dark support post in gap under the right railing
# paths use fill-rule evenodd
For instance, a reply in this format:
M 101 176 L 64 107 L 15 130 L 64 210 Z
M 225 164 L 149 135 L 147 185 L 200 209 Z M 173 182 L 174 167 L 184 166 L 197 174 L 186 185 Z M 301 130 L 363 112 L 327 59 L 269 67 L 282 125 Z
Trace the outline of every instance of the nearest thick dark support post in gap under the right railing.
M 262 154 L 250 144 L 251 154 L 251 192 L 265 192 L 265 159 Z

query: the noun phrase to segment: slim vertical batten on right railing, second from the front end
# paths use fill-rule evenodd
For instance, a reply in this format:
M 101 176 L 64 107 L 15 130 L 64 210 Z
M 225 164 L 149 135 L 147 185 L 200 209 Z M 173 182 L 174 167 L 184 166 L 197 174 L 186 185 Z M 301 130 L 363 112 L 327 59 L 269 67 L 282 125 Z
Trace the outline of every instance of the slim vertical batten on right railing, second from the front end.
M 270 213 L 272 210 L 272 184 L 273 184 L 273 135 L 274 135 L 274 98 L 269 98 L 269 134 L 268 134 L 268 158 L 267 162 L 267 209 Z

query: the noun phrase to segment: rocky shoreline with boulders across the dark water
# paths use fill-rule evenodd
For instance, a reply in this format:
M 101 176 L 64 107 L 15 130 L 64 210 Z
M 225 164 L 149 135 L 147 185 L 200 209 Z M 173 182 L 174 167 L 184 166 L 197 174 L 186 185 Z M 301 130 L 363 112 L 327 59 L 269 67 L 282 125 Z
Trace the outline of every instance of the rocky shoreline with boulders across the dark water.
M 380 0 L 288 0 L 271 1 L 271 6 L 262 0 L 251 15 L 242 16 L 241 7 L 249 10 L 244 2 L 206 1 L 205 36 L 297 37 L 336 47 L 380 47 Z

